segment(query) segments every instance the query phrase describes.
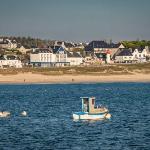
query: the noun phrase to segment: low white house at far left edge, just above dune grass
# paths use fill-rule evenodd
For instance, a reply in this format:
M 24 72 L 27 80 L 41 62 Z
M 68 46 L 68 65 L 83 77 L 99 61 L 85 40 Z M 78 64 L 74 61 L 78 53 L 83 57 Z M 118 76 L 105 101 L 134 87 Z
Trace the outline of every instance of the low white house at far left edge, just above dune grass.
M 0 68 L 15 67 L 22 68 L 22 63 L 14 55 L 3 55 L 0 57 Z

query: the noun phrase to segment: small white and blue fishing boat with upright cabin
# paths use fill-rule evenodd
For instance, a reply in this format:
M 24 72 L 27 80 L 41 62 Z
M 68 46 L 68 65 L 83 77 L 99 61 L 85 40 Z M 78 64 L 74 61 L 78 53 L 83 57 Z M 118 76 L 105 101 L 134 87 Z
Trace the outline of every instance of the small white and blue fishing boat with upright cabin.
M 111 118 L 111 114 L 106 107 L 95 107 L 95 97 L 81 97 L 81 100 L 82 111 L 73 113 L 74 120 L 102 120 Z

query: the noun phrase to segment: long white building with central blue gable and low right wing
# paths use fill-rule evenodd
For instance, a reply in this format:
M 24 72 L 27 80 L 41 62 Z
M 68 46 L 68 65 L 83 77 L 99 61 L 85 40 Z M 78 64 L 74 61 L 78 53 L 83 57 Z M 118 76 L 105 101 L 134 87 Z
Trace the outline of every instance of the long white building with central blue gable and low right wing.
M 77 66 L 83 63 L 83 57 L 77 52 L 69 52 L 61 46 L 48 49 L 36 49 L 30 54 L 30 64 L 39 67 Z

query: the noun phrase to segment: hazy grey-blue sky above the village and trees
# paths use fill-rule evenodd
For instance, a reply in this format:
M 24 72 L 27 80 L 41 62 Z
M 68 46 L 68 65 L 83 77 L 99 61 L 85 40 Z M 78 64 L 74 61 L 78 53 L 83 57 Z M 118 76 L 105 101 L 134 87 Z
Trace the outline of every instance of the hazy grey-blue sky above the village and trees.
M 150 0 L 0 0 L 0 36 L 150 40 Z

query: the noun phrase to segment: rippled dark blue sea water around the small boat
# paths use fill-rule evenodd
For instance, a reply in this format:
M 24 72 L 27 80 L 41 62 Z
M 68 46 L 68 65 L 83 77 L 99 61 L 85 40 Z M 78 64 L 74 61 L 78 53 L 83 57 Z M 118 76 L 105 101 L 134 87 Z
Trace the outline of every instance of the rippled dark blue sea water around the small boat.
M 73 121 L 81 96 L 111 120 Z M 150 83 L 0 85 L 0 111 L 0 150 L 150 150 Z

